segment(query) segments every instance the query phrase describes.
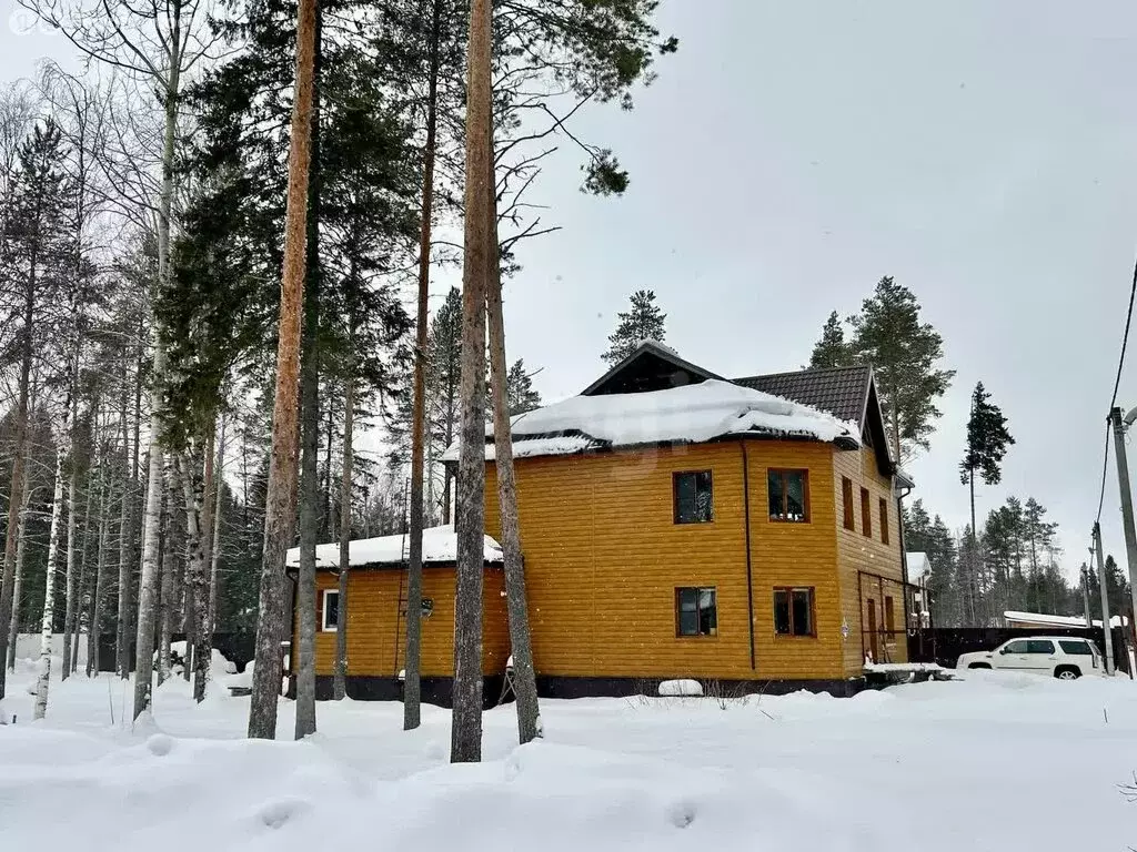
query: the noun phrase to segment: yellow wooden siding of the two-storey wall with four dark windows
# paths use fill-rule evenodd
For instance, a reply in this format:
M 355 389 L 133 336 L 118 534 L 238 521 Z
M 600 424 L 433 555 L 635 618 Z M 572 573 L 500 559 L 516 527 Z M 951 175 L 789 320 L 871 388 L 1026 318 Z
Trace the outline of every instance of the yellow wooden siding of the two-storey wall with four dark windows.
M 840 677 L 833 448 L 747 442 L 756 666 L 750 666 L 742 448 L 521 459 L 518 510 L 541 675 Z M 810 523 L 769 517 L 766 471 L 810 471 Z M 677 525 L 672 476 L 713 473 L 714 521 Z M 487 529 L 499 531 L 492 465 Z M 675 588 L 713 586 L 717 635 L 675 636 Z M 815 638 L 775 637 L 773 590 L 815 588 Z

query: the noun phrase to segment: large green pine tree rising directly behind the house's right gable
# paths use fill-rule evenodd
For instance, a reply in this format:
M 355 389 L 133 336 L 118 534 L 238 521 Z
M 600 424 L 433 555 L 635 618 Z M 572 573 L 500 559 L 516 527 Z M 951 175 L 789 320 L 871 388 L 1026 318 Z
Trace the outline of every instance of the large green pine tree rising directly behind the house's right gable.
M 928 449 L 933 421 L 940 416 L 936 401 L 955 376 L 955 370 L 938 368 L 943 337 L 930 324 L 921 323 L 920 303 L 912 291 L 887 276 L 849 323 L 852 356 L 875 369 L 893 454 L 904 461 L 918 448 Z

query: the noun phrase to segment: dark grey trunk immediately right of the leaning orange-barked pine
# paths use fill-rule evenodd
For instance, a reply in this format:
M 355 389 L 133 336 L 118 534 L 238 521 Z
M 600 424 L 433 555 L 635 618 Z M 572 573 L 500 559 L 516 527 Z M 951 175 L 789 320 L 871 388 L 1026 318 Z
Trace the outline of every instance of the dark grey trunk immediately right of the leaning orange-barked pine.
M 323 12 L 316 7 L 313 56 L 312 157 L 308 164 L 308 247 L 300 362 L 300 567 L 296 666 L 296 738 L 316 733 L 316 537 L 319 532 L 319 76 Z

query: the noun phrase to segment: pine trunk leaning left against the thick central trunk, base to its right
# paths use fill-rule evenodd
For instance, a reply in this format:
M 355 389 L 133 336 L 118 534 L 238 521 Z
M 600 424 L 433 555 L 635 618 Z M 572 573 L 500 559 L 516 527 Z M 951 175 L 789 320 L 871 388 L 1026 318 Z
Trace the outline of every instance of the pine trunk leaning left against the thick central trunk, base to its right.
M 533 642 L 525 599 L 525 567 L 521 558 L 517 523 L 517 481 L 513 468 L 513 434 L 509 428 L 509 391 L 506 376 L 505 315 L 501 308 L 501 264 L 497 251 L 497 183 L 490 172 L 490 222 L 492 223 L 490 275 L 485 307 L 490 332 L 490 381 L 493 400 L 493 459 L 497 468 L 498 504 L 501 511 L 501 549 L 505 554 L 505 592 L 509 611 L 509 648 L 513 654 L 513 691 L 517 696 L 517 734 L 521 744 L 541 735 L 537 702 Z

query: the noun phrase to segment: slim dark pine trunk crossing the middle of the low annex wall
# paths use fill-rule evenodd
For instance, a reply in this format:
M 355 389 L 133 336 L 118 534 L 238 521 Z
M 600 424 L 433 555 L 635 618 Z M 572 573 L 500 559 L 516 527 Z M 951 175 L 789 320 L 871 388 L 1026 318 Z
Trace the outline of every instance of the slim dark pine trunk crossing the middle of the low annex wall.
M 438 147 L 438 77 L 441 3 L 434 0 L 423 150 L 422 228 L 418 235 L 418 306 L 415 319 L 414 400 L 410 425 L 410 565 L 407 578 L 407 654 L 402 684 L 402 729 L 422 721 L 423 476 L 426 442 L 426 325 L 430 296 L 431 231 L 434 215 L 434 159 Z M 342 599 L 340 605 L 342 607 Z

